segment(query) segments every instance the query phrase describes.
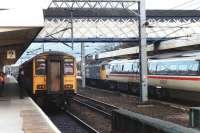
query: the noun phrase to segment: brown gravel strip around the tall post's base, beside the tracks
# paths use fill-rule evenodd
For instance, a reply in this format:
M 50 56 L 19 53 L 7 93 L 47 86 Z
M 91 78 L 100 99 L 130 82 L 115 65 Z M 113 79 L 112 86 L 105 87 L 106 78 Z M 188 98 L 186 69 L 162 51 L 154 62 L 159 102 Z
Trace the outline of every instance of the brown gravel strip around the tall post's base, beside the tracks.
M 115 105 L 117 107 L 122 107 L 127 110 L 148 115 L 154 118 L 171 121 L 183 126 L 188 126 L 189 116 L 188 110 L 184 107 L 172 107 L 170 105 L 165 105 L 155 100 L 150 100 L 149 105 L 138 105 L 138 99 L 135 96 L 121 94 L 121 93 L 110 93 L 108 91 L 102 91 L 99 89 L 79 89 L 79 94 L 103 101 Z

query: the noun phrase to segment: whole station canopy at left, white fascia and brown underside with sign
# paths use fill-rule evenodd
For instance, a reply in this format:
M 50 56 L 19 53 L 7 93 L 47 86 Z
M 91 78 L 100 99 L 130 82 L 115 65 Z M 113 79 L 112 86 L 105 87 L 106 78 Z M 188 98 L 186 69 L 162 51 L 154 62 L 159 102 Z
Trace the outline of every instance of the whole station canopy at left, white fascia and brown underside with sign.
M 0 10 L 0 66 L 13 64 L 43 28 L 41 9 Z

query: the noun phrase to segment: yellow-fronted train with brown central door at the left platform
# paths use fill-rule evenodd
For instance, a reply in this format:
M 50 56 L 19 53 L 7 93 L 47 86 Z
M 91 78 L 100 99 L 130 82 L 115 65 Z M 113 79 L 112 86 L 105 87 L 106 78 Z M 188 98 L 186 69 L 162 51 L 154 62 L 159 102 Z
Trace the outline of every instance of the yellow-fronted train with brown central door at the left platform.
M 76 61 L 57 51 L 41 53 L 23 63 L 23 87 L 43 106 L 45 102 L 68 103 L 77 92 Z

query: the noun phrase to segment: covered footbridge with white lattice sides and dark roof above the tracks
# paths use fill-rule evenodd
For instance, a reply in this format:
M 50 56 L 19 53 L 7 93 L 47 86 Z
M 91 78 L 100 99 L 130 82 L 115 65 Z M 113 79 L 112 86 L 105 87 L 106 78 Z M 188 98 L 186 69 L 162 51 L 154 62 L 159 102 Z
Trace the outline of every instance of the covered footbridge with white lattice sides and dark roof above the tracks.
M 138 42 L 134 0 L 53 0 L 35 42 Z M 200 33 L 199 10 L 147 10 L 147 40 L 153 43 Z M 73 28 L 73 29 L 72 29 Z

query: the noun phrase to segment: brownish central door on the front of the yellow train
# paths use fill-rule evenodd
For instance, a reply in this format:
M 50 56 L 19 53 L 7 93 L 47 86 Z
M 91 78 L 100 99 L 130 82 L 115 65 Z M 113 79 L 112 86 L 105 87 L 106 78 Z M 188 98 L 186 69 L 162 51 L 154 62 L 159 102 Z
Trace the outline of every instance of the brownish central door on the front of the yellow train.
M 62 61 L 60 59 L 50 58 L 48 61 L 48 89 L 49 92 L 58 92 L 62 90 Z

